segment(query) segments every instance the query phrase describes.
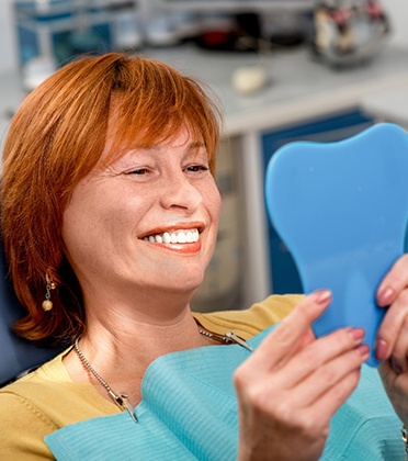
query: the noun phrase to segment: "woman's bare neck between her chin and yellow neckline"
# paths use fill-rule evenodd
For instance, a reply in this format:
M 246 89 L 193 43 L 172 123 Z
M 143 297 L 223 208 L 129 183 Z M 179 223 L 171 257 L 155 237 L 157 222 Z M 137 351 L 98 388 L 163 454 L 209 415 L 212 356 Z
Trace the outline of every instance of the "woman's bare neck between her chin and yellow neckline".
M 88 362 L 115 393 L 126 392 L 131 403 L 140 400 L 141 380 L 148 366 L 166 353 L 211 344 L 199 334 L 197 325 L 186 304 L 183 308 L 150 304 L 151 315 L 144 310 L 117 306 L 110 310 L 87 310 L 87 326 L 80 349 Z M 170 315 L 172 313 L 172 315 Z M 72 351 L 64 359 L 72 381 L 88 381 L 110 400 L 106 389 Z

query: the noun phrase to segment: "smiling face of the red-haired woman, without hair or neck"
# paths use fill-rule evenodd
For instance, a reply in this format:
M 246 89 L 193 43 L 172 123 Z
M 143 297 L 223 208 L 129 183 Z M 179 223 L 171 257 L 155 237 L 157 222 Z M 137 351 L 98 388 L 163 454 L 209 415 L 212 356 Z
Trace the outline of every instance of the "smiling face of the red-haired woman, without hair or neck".
M 183 131 L 79 182 L 64 214 L 66 255 L 84 294 L 194 290 L 214 250 L 219 209 L 207 151 Z

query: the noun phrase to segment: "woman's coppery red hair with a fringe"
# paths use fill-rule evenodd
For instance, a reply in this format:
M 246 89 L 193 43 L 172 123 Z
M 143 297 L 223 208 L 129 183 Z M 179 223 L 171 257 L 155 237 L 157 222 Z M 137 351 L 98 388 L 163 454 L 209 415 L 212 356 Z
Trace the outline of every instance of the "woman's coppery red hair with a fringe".
M 205 143 L 214 173 L 219 111 L 202 86 L 163 63 L 116 53 L 84 57 L 36 88 L 11 123 L 1 184 L 4 251 L 27 310 L 14 329 L 25 338 L 71 341 L 83 329 L 81 290 L 64 256 L 63 214 L 105 147 L 112 99 L 111 161 L 124 147 L 158 144 L 186 127 Z M 48 313 L 42 308 L 46 273 L 57 285 Z

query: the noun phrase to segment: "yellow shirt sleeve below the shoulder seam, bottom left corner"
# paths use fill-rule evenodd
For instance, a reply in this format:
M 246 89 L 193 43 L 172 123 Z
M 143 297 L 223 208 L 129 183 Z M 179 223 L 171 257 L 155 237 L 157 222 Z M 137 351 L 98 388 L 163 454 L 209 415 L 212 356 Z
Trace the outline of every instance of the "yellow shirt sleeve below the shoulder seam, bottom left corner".
M 0 452 L 4 460 L 54 460 L 44 437 L 57 427 L 26 398 L 0 392 Z

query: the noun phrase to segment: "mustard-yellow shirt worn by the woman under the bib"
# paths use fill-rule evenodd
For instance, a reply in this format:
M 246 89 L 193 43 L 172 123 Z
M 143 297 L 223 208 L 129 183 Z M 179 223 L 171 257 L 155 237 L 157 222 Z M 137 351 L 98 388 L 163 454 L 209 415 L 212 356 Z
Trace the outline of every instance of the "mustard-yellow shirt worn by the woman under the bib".
M 273 295 L 246 311 L 194 313 L 194 317 L 209 331 L 224 335 L 233 330 L 249 339 L 282 319 L 299 299 Z M 44 442 L 46 435 L 69 424 L 120 412 L 91 384 L 72 382 L 63 364 L 67 352 L 0 390 L 0 460 L 53 460 Z

